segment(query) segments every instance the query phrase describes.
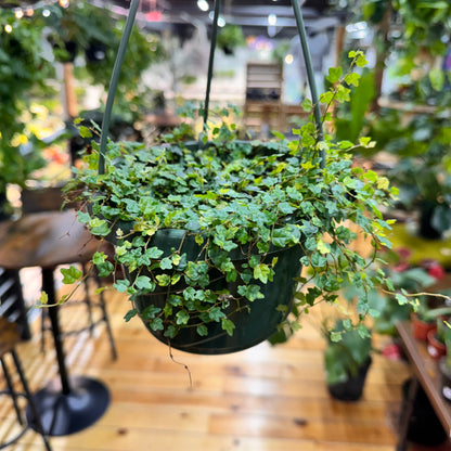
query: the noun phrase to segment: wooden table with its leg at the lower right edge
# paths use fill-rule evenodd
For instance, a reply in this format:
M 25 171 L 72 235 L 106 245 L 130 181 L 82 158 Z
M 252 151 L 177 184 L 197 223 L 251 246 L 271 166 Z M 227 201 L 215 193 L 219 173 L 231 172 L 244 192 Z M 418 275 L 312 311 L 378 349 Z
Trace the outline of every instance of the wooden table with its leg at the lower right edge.
M 404 451 L 407 449 L 409 418 L 412 413 L 413 400 L 418 384 L 422 385 L 426 392 L 448 437 L 451 437 L 451 403 L 441 395 L 440 372 L 437 361 L 433 360 L 427 353 L 426 344 L 413 337 L 412 324 L 410 321 L 398 323 L 397 328 L 414 372 L 413 383 L 409 389 L 407 407 L 403 412 L 401 412 L 400 418 L 400 434 L 397 451 Z

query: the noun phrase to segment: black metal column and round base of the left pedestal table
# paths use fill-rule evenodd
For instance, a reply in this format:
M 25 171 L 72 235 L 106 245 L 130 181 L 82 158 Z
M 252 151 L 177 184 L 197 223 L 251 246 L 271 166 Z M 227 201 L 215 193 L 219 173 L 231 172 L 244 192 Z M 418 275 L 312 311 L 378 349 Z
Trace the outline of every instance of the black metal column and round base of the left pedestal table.
M 42 289 L 49 295 L 49 304 L 54 304 L 53 269 L 42 269 Z M 42 428 L 49 436 L 65 436 L 91 426 L 109 404 L 109 391 L 103 383 L 86 376 L 68 376 L 57 313 L 57 307 L 49 308 L 60 378 L 34 396 Z M 37 430 L 37 422 L 28 408 L 26 415 Z

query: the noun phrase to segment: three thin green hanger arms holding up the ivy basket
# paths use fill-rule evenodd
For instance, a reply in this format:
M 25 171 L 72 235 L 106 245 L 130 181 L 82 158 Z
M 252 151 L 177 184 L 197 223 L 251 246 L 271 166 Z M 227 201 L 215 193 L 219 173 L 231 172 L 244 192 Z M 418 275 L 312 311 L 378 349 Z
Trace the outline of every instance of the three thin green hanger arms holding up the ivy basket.
M 113 103 L 114 103 L 114 98 L 116 94 L 117 85 L 119 80 L 120 68 L 124 63 L 124 57 L 127 51 L 127 46 L 130 39 L 131 31 L 133 28 L 133 23 L 137 16 L 139 3 L 140 3 L 140 0 L 131 0 L 130 2 L 129 13 L 127 15 L 126 25 L 125 25 L 124 33 L 120 39 L 116 61 L 113 67 L 113 75 L 112 75 L 112 79 L 109 82 L 108 94 L 107 94 L 106 104 L 105 104 L 105 113 L 103 115 L 103 121 L 102 121 L 100 152 L 99 152 L 99 175 L 105 173 L 105 151 L 106 151 L 107 134 L 109 132 L 109 120 L 111 120 L 112 111 L 113 111 Z M 323 130 L 322 130 L 321 111 L 320 111 L 320 104 L 319 104 L 319 99 L 318 99 L 317 85 L 315 85 L 314 76 L 313 76 L 313 65 L 311 62 L 310 50 L 309 50 L 309 46 L 307 41 L 306 27 L 304 25 L 304 20 L 302 20 L 302 12 L 300 10 L 299 0 L 292 0 L 292 4 L 293 4 L 293 11 L 296 17 L 296 25 L 297 25 L 297 30 L 299 33 L 304 60 L 306 62 L 307 78 L 309 81 L 309 87 L 310 87 L 310 92 L 311 92 L 311 98 L 312 98 L 312 103 L 313 103 L 313 108 L 314 108 L 313 113 L 314 113 L 314 121 L 317 125 L 318 137 L 319 137 L 319 140 L 322 141 Z M 208 107 L 209 107 L 209 98 L 210 98 L 210 88 L 211 88 L 211 78 L 212 78 L 212 65 L 214 65 L 214 60 L 215 60 L 215 48 L 216 48 L 216 39 L 217 39 L 217 34 L 218 34 L 219 9 L 220 9 L 220 0 L 216 0 L 210 54 L 209 54 L 209 61 L 208 61 L 207 89 L 206 89 L 206 94 L 205 94 L 204 126 L 207 124 L 207 120 L 208 120 Z M 325 166 L 325 153 L 323 150 L 321 150 L 321 167 L 324 167 L 324 166 Z

